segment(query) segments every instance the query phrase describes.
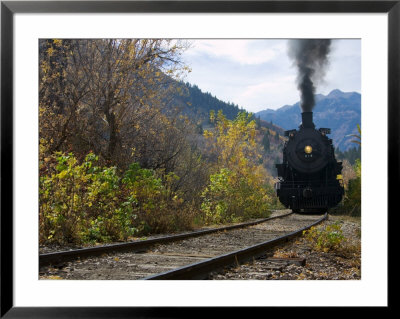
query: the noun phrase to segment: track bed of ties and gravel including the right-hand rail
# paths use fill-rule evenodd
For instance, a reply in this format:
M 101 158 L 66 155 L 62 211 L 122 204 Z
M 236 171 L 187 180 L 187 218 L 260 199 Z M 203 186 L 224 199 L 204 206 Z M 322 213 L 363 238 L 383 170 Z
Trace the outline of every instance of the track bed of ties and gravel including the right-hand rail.
M 115 245 L 89 248 L 97 256 L 88 251 L 81 255 L 86 258 L 78 260 L 71 260 L 74 251 L 65 252 L 67 259 L 60 255 L 50 265 L 46 265 L 50 254 L 40 255 L 39 274 L 41 279 L 204 279 L 211 271 L 264 254 L 326 216 L 284 214 L 245 228 L 242 224 L 207 234 L 197 232 L 180 240 L 176 236 L 158 238 L 140 248 L 128 249 L 125 244 L 120 251 L 110 248 Z

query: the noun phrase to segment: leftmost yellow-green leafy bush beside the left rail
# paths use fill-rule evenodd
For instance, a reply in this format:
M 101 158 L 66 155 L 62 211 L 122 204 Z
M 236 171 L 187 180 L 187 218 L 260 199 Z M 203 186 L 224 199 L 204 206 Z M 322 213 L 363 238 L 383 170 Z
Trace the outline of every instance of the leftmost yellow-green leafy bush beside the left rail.
M 88 154 L 79 164 L 72 153 L 56 153 L 39 178 L 41 242 L 123 240 L 133 235 L 136 199 L 125 196 L 115 167 L 95 166 Z

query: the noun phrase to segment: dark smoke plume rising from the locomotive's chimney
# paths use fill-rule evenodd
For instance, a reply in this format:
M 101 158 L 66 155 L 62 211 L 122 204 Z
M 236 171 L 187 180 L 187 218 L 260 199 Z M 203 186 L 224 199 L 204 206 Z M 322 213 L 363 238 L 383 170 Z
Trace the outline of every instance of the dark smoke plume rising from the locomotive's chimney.
M 297 88 L 301 94 L 303 112 L 311 112 L 315 105 L 315 84 L 320 81 L 328 64 L 331 40 L 296 39 L 289 41 L 289 57 L 297 66 Z

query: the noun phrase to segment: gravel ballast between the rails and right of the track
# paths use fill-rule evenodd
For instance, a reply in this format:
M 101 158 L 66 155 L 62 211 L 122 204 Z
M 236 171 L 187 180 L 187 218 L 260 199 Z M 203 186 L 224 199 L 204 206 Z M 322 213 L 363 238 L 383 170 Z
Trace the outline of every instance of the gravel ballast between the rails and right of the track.
M 280 215 L 276 212 L 273 215 Z M 303 220 L 309 223 L 317 216 L 292 215 L 283 220 L 273 220 L 264 224 L 253 226 L 253 232 L 230 231 L 229 234 L 237 236 L 226 237 L 228 233 L 220 232 L 210 236 L 212 242 L 207 242 L 207 237 L 193 238 L 188 241 L 176 242 L 170 245 L 156 245 L 150 249 L 150 259 L 145 254 L 123 253 L 104 255 L 102 257 L 86 258 L 76 262 L 68 262 L 55 267 L 45 267 L 40 270 L 40 279 L 140 279 L 145 273 L 157 273 L 161 263 L 159 258 L 169 258 L 165 270 L 179 267 L 180 264 L 190 264 L 204 258 L 211 258 L 223 253 L 218 250 L 227 245 L 231 250 L 246 246 L 247 241 L 253 241 L 261 236 L 260 240 L 268 239 L 264 232 L 271 230 L 278 233 L 288 233 L 294 230 L 294 222 Z M 279 247 L 266 251 L 261 258 L 236 267 L 226 268 L 222 272 L 213 273 L 209 280 L 359 280 L 361 279 L 361 223 L 360 218 L 345 218 L 330 216 L 328 221 L 316 226 L 323 229 L 327 225 L 339 223 L 345 243 L 339 249 L 321 251 L 315 249 L 306 240 L 299 236 Z M 293 229 L 292 229 L 293 228 Z M 260 233 L 259 233 L 260 232 Z M 258 234 L 259 233 L 259 234 Z M 246 236 L 249 237 L 246 239 Z M 250 242 L 249 241 L 249 242 Z M 193 245 L 193 247 L 192 247 Z M 206 249 L 206 247 L 208 247 Z M 215 251 L 214 251 L 215 250 Z M 179 258 L 178 258 L 179 257 Z M 184 259 L 182 259 L 183 257 Z M 271 261 L 271 257 L 281 260 Z M 147 258 L 147 257 L 146 257 Z M 185 258 L 187 261 L 185 261 Z M 293 259 L 294 258 L 294 259 Z M 142 260 L 143 259 L 143 260 Z M 303 263 L 295 260 L 303 260 Z M 179 263 L 178 263 L 179 262 Z M 143 268 L 143 269 L 142 269 Z M 154 268 L 154 269 L 153 269 Z

